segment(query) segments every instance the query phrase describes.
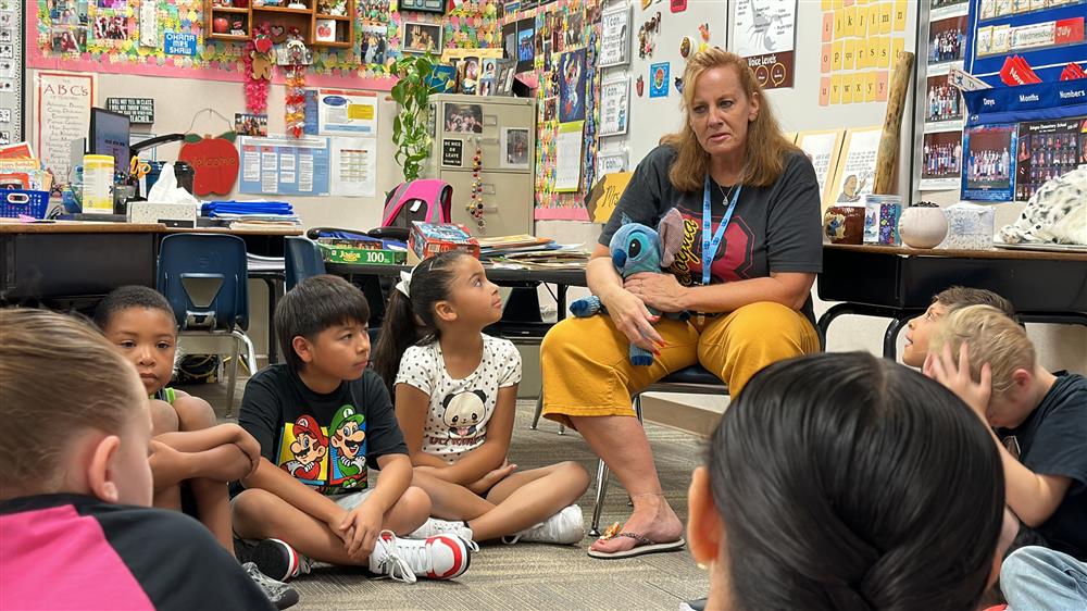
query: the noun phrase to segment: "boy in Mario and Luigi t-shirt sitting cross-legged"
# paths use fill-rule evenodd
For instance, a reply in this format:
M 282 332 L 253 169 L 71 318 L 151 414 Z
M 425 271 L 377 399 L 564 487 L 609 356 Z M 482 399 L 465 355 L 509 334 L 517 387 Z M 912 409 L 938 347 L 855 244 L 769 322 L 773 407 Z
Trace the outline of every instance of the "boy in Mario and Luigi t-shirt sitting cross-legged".
M 366 298 L 343 278 L 299 283 L 275 311 L 287 362 L 246 386 L 239 422 L 261 459 L 234 499 L 234 527 L 239 554 L 277 579 L 309 572 L 311 559 L 409 583 L 468 568 L 459 537 L 398 538 L 426 522 L 430 499 L 411 487 L 392 401 L 366 369 L 368 319 Z M 374 485 L 367 466 L 382 471 Z

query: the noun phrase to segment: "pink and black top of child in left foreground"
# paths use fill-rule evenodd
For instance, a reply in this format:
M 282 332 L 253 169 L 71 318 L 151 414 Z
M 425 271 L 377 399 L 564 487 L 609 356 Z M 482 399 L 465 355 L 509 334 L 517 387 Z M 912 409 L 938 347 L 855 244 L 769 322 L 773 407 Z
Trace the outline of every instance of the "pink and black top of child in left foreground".
M 0 609 L 275 609 L 179 511 L 22 497 L 0 502 Z

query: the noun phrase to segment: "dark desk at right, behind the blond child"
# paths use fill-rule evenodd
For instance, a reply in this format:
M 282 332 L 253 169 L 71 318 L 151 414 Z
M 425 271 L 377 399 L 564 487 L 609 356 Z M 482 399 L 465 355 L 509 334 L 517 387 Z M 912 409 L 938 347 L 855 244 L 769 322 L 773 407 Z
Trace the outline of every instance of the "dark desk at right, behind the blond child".
M 1087 326 L 1087 253 L 825 245 L 819 296 L 841 303 L 820 317 L 819 327 L 826 337 L 840 315 L 891 319 L 884 356 L 894 359 L 902 327 L 953 285 L 1004 297 L 1023 322 Z

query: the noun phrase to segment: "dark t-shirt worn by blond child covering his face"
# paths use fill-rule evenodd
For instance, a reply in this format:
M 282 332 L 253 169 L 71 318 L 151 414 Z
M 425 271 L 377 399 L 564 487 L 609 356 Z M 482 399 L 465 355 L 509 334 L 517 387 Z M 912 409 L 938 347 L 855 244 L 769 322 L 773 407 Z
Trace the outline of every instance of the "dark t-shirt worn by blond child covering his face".
M 1034 473 L 1072 479 L 1057 511 L 1036 531 L 1052 549 L 1087 561 L 1087 378 L 1059 372 L 1030 415 L 997 435 L 1005 446 L 1019 446 L 1020 462 Z

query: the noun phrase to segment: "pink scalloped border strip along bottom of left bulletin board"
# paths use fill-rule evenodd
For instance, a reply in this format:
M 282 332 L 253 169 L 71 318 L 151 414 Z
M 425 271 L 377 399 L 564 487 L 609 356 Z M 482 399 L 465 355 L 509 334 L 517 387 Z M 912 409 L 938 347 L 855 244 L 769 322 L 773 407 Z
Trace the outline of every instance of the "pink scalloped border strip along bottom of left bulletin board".
M 192 67 L 176 65 L 175 58 L 166 58 L 166 63 L 159 65 L 159 58 L 148 55 L 147 63 L 136 63 L 133 61 L 111 62 L 103 54 L 102 61 L 90 58 L 90 53 L 82 53 L 76 57 L 47 58 L 41 53 L 41 48 L 30 41 L 38 38 L 38 17 L 27 11 L 25 28 L 26 65 L 35 70 L 59 70 L 67 72 L 93 72 L 99 74 L 137 74 L 141 76 L 164 76 L 174 78 L 191 78 L 196 80 L 222 80 L 233 83 L 245 83 L 245 75 L 239 70 L 224 70 L 214 67 L 220 62 L 211 62 L 213 67 Z M 180 59 L 184 55 L 176 55 Z M 240 67 L 238 64 L 237 67 Z M 338 68 L 337 68 L 338 71 Z M 283 85 L 286 78 L 282 71 L 273 71 L 272 83 Z M 362 77 L 358 75 L 335 75 L 335 74 L 313 74 L 305 75 L 307 87 L 338 87 L 345 89 L 371 89 L 376 91 L 389 91 L 396 84 L 393 77 Z

